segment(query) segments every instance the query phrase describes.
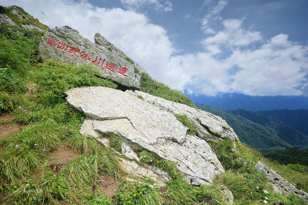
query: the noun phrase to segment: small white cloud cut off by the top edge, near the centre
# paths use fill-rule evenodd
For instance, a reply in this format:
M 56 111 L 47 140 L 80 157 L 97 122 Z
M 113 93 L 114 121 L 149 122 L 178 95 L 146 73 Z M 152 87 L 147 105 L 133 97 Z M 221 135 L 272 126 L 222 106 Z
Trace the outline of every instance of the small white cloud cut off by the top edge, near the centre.
M 172 11 L 171 1 L 165 1 L 163 5 L 159 0 L 120 0 L 122 5 L 129 9 L 140 9 L 143 6 L 154 6 L 157 11 Z

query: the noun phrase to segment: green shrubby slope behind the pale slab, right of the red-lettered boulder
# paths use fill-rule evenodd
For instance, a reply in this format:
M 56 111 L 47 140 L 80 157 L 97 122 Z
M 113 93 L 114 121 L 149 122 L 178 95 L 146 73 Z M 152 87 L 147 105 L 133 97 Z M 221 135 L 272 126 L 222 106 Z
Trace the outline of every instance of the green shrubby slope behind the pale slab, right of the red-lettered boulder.
M 147 73 L 140 73 L 140 91 L 151 95 L 162 97 L 168 101 L 174 101 L 181 104 L 186 104 L 189 107 L 196 108 L 189 97 L 177 90 L 169 88 L 160 82 L 152 79 Z

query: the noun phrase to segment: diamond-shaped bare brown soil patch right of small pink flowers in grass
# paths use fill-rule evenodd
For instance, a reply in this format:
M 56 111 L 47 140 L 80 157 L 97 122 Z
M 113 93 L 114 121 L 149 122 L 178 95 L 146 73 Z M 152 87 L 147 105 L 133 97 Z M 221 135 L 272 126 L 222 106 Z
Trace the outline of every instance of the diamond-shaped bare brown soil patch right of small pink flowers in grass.
M 55 159 L 57 164 L 60 163 L 67 165 L 70 160 L 75 159 L 77 156 L 77 153 L 73 152 L 62 144 L 55 152 L 51 153 L 49 158 Z

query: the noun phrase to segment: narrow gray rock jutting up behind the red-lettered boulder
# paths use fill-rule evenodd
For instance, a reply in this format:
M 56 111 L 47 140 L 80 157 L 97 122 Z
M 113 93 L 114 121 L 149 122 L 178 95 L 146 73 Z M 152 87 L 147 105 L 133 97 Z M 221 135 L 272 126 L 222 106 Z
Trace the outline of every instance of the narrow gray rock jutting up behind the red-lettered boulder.
M 107 41 L 105 37 L 103 37 L 101 34 L 96 33 L 94 35 L 94 41 L 96 44 L 101 45 L 108 50 L 110 50 L 112 53 L 115 53 L 115 55 L 120 56 L 121 58 L 127 57 L 125 53 L 123 53 L 120 49 L 118 49 L 115 45 Z M 138 63 L 134 62 L 134 66 L 143 73 L 147 73 L 142 66 L 140 66 Z

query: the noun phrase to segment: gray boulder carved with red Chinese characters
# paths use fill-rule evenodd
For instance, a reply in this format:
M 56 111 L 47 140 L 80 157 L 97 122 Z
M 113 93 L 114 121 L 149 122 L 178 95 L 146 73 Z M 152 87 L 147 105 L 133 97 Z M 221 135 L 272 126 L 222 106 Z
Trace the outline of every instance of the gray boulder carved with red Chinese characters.
M 39 45 L 40 56 L 44 59 L 69 62 L 76 65 L 91 65 L 101 76 L 112 79 L 133 90 L 140 89 L 140 76 L 128 61 L 108 49 L 92 43 L 69 26 L 49 29 Z

